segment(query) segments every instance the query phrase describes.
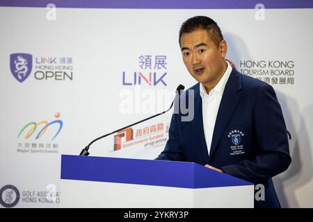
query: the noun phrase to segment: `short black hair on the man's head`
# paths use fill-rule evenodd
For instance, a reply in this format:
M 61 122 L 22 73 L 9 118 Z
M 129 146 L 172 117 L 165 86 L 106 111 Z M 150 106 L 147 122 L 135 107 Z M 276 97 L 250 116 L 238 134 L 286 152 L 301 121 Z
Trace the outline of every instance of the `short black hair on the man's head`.
M 192 33 L 198 28 L 202 28 L 207 31 L 211 40 L 219 46 L 220 42 L 224 39 L 220 27 L 214 22 L 213 19 L 206 16 L 195 16 L 187 19 L 179 30 L 179 46 L 180 39 L 184 33 Z

